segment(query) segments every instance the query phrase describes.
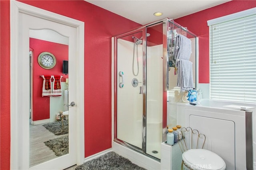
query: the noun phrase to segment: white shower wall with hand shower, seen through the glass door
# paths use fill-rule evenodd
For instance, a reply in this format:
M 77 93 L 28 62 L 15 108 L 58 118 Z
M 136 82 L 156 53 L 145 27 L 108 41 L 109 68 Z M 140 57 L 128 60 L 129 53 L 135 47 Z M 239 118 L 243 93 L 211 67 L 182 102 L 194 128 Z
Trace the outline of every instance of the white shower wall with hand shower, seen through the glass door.
M 117 137 L 136 147 L 142 148 L 142 45 L 138 45 L 139 72 L 137 76 L 132 73 L 134 43 L 118 39 L 117 74 L 124 73 L 124 87 L 117 87 Z M 134 73 L 137 73 L 136 55 L 134 56 Z M 132 86 L 132 79 L 140 82 L 137 87 Z M 122 82 L 118 75 L 117 84 Z

